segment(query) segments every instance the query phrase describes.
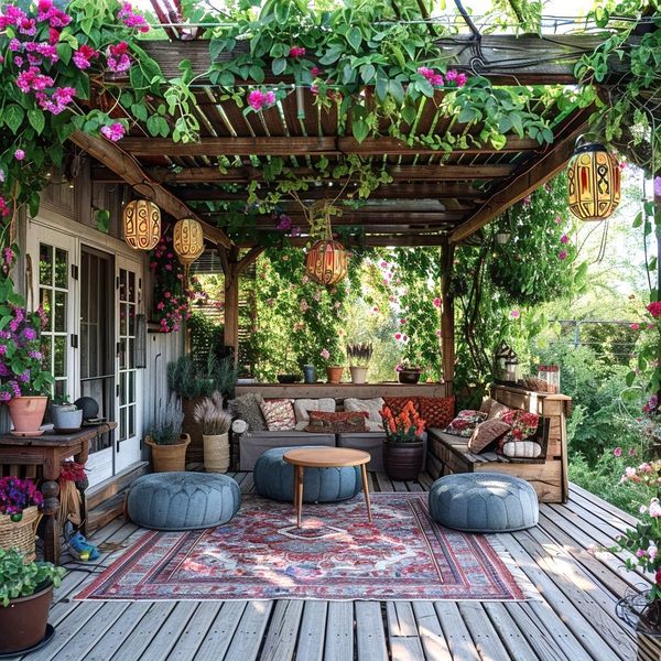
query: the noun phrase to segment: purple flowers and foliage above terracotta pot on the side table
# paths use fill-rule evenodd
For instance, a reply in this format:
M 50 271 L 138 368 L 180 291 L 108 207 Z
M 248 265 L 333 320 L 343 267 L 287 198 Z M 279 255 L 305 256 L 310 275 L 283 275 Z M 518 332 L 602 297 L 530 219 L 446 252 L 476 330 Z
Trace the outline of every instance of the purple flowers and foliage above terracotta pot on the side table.
M 10 288 L 10 281 L 0 284 Z M 20 304 L 0 303 L 0 402 L 14 397 L 47 394 L 53 377 L 42 367 L 40 329 L 47 322 L 40 308 L 29 314 Z

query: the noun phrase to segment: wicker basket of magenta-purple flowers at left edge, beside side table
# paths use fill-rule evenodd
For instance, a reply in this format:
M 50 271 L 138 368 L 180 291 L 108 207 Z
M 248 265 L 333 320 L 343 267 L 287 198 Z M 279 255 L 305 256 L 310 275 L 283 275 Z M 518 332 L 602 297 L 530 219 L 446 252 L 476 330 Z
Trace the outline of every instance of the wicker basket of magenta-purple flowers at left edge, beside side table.
M 41 519 L 42 492 L 30 479 L 0 478 L 0 549 L 17 548 L 34 560 L 34 533 Z

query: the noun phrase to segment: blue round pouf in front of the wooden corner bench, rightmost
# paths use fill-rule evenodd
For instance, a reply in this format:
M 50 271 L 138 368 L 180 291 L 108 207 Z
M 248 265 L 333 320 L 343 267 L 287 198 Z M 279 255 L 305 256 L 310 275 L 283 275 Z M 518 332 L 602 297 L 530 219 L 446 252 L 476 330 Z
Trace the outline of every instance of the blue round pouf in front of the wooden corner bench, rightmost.
M 539 501 L 525 480 L 502 473 L 462 473 L 430 489 L 434 521 L 465 532 L 511 532 L 537 525 Z

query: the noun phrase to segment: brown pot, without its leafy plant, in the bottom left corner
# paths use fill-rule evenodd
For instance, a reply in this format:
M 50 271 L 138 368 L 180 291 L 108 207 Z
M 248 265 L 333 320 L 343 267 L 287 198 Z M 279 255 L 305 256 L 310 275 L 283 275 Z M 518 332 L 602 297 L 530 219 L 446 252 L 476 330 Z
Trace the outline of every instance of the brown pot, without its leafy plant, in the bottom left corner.
M 20 652 L 44 639 L 48 624 L 48 609 L 53 597 L 53 584 L 29 597 L 10 599 L 9 606 L 0 605 L 0 653 Z

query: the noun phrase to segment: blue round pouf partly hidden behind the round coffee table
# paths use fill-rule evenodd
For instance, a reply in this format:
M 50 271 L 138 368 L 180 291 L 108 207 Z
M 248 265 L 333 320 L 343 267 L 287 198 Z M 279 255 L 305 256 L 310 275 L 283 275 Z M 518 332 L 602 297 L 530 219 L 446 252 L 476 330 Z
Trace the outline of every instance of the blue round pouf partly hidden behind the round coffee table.
M 267 449 L 257 459 L 252 477 L 254 489 L 260 496 L 292 502 L 294 467 L 282 458 L 290 449 L 301 447 L 274 447 Z M 305 468 L 303 473 L 303 502 L 335 502 L 353 498 L 360 491 L 362 481 L 359 466 Z

